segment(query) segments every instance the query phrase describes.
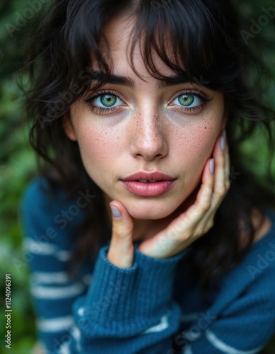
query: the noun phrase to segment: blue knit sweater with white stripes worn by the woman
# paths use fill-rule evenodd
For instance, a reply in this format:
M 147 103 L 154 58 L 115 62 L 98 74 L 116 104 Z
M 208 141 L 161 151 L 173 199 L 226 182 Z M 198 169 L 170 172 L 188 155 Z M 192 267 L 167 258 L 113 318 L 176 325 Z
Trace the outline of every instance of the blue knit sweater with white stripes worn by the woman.
M 202 299 L 185 264 L 187 250 L 167 259 L 144 255 L 122 269 L 98 258 L 73 277 L 73 236 L 90 196 L 66 204 L 60 190 L 30 183 L 21 203 L 25 249 L 37 331 L 47 353 L 252 354 L 275 333 L 275 213 L 269 232 L 256 241 L 221 286 Z M 181 266 L 179 267 L 179 262 Z M 183 268 L 183 270 L 182 270 Z

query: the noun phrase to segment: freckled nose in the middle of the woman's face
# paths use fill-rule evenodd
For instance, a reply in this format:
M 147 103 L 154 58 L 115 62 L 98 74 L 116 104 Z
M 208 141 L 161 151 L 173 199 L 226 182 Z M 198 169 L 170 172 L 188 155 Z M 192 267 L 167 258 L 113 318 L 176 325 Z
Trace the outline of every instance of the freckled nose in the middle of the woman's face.
M 168 127 L 163 125 L 156 111 L 139 113 L 132 120 L 131 154 L 135 158 L 151 161 L 168 154 Z

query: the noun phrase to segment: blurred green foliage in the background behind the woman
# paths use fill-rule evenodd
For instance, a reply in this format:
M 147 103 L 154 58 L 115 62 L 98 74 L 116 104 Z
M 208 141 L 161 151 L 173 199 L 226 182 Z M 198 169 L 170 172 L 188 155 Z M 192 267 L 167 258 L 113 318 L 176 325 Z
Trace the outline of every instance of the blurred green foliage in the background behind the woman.
M 16 84 L 18 69 L 22 67 L 24 43 L 28 39 L 28 23 L 11 37 L 7 23 L 16 25 L 18 13 L 30 8 L 31 1 L 1 0 L 0 2 L 0 352 L 31 353 L 35 343 L 35 316 L 28 290 L 28 261 L 25 260 L 18 207 L 28 181 L 36 175 L 35 156 L 28 144 L 28 127 L 22 120 L 21 92 Z M 38 2 L 40 2 L 38 0 Z M 44 1 L 45 2 L 45 1 Z M 250 31 L 251 19 L 258 21 L 263 7 L 272 1 L 239 0 L 244 17 L 243 28 Z M 260 47 L 262 57 L 269 67 L 275 67 L 275 20 L 262 27 L 254 41 Z M 273 70 L 274 72 L 274 70 Z M 271 87 L 269 101 L 274 103 L 275 88 Z M 16 100 L 14 98 L 17 98 Z M 265 155 L 263 137 L 247 142 L 248 163 L 261 174 Z M 257 141 L 257 143 L 255 143 Z M 275 168 L 274 168 L 275 171 Z M 5 349 L 4 328 L 4 275 L 12 279 L 12 349 Z M 275 353 L 275 341 L 270 343 L 270 353 Z

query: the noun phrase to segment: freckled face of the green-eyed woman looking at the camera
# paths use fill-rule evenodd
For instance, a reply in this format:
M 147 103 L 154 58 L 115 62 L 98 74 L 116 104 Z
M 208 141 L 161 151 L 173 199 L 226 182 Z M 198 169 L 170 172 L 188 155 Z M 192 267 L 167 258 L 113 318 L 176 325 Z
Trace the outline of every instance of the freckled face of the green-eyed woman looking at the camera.
M 82 98 L 71 106 L 71 123 L 64 126 L 67 136 L 78 142 L 86 171 L 107 200 L 119 200 L 136 219 L 160 219 L 184 205 L 200 183 L 226 125 L 223 94 L 188 82 L 160 86 L 162 81 L 146 71 L 137 45 L 134 66 L 146 81 L 139 79 L 127 59 L 132 25 L 134 20 L 117 19 L 105 28 L 112 74 L 127 76 L 132 85 L 105 84 L 93 92 L 97 98 Z M 160 72 L 175 76 L 155 59 Z M 153 175 L 125 182 L 138 172 L 165 173 L 172 181 Z

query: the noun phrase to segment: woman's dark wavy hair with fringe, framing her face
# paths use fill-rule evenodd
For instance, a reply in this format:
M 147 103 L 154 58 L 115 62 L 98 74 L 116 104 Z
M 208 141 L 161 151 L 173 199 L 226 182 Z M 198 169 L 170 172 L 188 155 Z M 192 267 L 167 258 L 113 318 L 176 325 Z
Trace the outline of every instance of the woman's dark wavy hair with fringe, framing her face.
M 275 113 L 264 103 L 267 80 L 263 66 L 242 38 L 232 1 L 53 1 L 38 18 L 27 50 L 25 69 L 30 86 L 25 94 L 30 142 L 40 156 L 40 173 L 53 190 L 64 188 L 68 195 L 74 195 L 88 189 L 96 195 L 76 235 L 76 259 L 85 258 L 89 250 L 96 256 L 110 239 L 103 194 L 83 168 L 78 144 L 66 137 L 62 117 L 69 114 L 72 103 L 103 86 L 112 72 L 112 65 L 108 66 L 100 51 L 103 42 L 108 45 L 103 26 L 120 15 L 136 18 L 127 54 L 139 77 L 132 54 L 143 37 L 142 57 L 153 77 L 165 79 L 154 65 L 152 53 L 156 52 L 176 74 L 185 74 L 190 82 L 225 96 L 231 186 L 212 229 L 189 246 L 187 253 L 189 265 L 206 292 L 249 251 L 255 232 L 262 226 L 265 207 L 274 207 L 275 200 L 269 186 Z M 169 39 L 171 50 L 163 38 Z M 95 64 L 100 74 L 95 73 Z M 269 151 L 262 178 L 247 163 L 242 149 L 242 143 L 250 137 L 255 139 L 257 132 L 262 132 Z M 262 215 L 256 227 L 253 210 Z

